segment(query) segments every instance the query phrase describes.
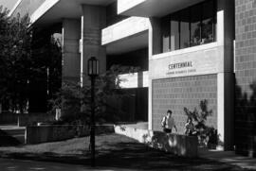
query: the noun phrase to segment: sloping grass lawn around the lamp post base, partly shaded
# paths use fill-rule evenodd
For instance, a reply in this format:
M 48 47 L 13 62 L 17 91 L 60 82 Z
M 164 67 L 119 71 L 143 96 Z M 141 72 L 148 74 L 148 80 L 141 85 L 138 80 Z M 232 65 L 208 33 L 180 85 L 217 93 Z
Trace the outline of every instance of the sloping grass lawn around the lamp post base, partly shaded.
M 0 156 L 90 164 L 89 137 L 41 145 L 0 147 Z M 223 162 L 181 158 L 117 134 L 96 137 L 96 164 L 135 170 L 242 170 Z

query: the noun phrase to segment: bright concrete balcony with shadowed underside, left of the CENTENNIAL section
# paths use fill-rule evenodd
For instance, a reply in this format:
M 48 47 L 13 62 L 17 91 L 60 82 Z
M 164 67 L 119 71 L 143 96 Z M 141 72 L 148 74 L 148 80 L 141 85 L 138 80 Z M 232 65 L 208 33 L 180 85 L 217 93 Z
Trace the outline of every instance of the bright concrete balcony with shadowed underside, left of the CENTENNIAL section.
M 102 29 L 101 44 L 108 55 L 126 53 L 148 46 L 149 19 L 130 17 Z

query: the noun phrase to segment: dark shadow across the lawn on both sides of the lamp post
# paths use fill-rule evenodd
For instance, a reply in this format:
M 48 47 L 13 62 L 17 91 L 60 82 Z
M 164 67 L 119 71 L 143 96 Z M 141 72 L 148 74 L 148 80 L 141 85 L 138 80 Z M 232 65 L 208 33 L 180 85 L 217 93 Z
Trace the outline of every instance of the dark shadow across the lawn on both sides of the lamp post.
M 213 162 L 206 159 L 189 159 L 152 149 L 138 143 L 104 142 L 97 146 L 96 165 L 100 167 L 115 167 L 133 170 L 225 170 L 238 171 L 240 167 L 223 162 Z M 90 165 L 90 153 L 83 155 L 60 155 L 46 152 L 42 154 L 12 153 L 9 158 L 32 159 L 46 162 L 64 162 Z M 3 156 L 3 155 L 2 155 Z

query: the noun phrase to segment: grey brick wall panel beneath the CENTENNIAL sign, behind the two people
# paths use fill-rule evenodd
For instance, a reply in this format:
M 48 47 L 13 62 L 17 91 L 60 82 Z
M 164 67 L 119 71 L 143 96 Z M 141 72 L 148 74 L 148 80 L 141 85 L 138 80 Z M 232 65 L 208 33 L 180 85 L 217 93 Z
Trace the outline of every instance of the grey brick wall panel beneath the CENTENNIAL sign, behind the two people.
M 175 77 L 153 80 L 153 129 L 161 130 L 160 122 L 172 110 L 179 133 L 184 132 L 187 116 L 184 107 L 199 109 L 200 100 L 209 101 L 213 111 L 207 125 L 217 128 L 217 75 Z

